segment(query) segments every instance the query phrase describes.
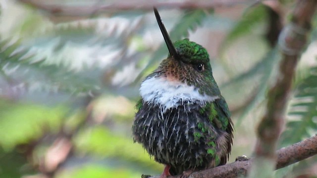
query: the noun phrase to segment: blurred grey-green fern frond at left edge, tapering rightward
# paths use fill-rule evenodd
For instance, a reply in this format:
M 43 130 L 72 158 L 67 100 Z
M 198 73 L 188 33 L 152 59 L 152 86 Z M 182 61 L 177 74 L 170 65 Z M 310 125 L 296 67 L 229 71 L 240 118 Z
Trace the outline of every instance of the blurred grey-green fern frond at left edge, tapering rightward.
M 2 77 L 12 79 L 14 86 L 27 90 L 66 91 L 81 93 L 95 90 L 100 83 L 93 71 L 80 73 L 62 65 L 47 64 L 33 50 L 20 45 L 18 40 L 0 39 L 0 71 Z M 3 87 L 3 86 L 2 86 Z

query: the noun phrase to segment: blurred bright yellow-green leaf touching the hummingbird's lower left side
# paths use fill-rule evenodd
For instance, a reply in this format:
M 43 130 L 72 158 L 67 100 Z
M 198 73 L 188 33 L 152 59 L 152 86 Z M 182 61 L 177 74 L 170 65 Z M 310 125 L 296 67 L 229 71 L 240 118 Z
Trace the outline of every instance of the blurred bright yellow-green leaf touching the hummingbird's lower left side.
M 80 153 L 91 153 L 97 156 L 121 158 L 151 168 L 162 170 L 162 167 L 154 160 L 150 160 L 144 148 L 133 143 L 132 138 L 126 138 L 118 133 L 112 133 L 109 129 L 96 126 L 82 130 L 75 138 L 76 150 Z

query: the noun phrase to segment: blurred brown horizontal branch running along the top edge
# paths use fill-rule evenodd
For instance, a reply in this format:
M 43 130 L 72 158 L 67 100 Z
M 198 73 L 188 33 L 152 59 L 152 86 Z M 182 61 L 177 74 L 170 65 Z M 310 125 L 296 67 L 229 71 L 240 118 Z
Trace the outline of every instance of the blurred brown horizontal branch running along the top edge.
M 115 12 L 119 10 L 143 9 L 153 10 L 153 7 L 167 7 L 167 8 L 182 8 L 182 9 L 196 9 L 196 8 L 213 8 L 232 6 L 236 4 L 252 4 L 254 0 L 199 0 L 199 1 L 157 1 L 157 0 L 132 0 L 119 1 L 109 4 L 93 4 L 92 5 L 78 5 L 66 6 L 61 4 L 50 4 L 41 2 L 39 0 L 19 0 L 25 4 L 31 5 L 37 9 L 44 10 L 52 15 L 67 15 L 67 16 L 89 16 L 91 14 L 101 12 Z

